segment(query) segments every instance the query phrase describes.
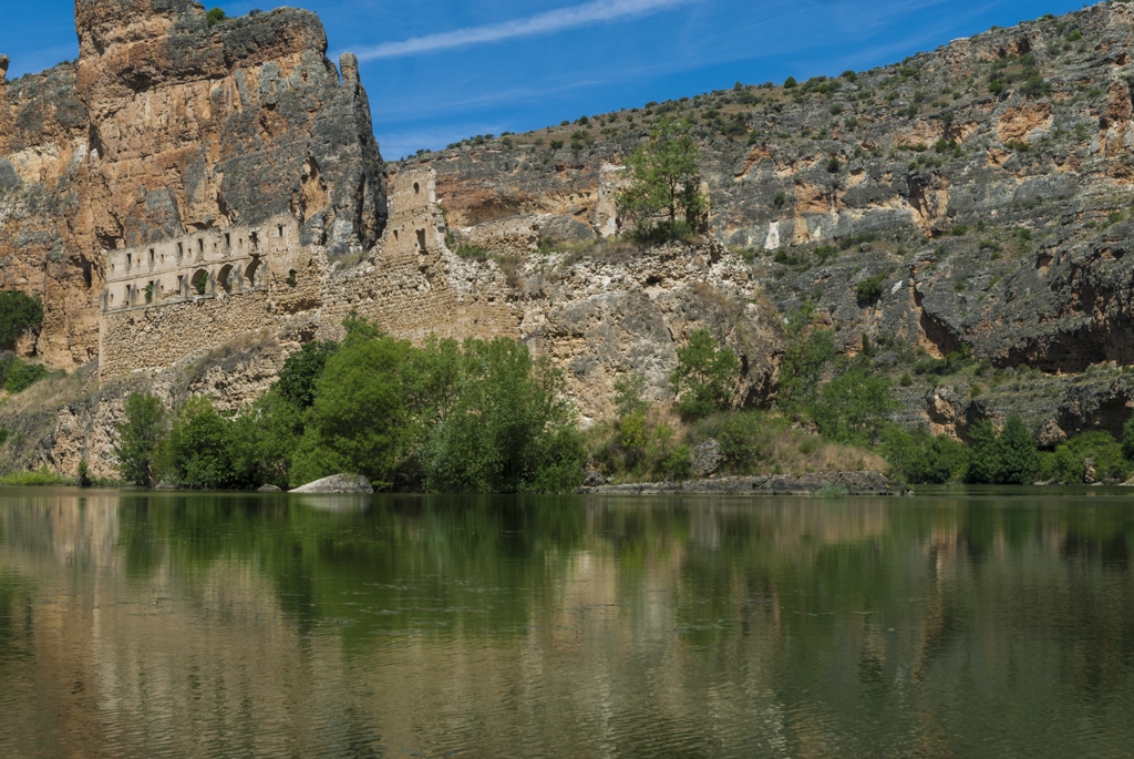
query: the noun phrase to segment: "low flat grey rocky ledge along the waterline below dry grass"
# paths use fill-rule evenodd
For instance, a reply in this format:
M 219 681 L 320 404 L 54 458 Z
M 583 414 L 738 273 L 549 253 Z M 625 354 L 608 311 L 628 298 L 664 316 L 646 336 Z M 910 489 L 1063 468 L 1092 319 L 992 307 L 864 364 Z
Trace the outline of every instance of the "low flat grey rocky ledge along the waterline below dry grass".
M 839 487 L 841 486 L 841 488 Z M 913 491 L 881 472 L 816 472 L 813 474 L 755 474 L 686 482 L 637 482 L 579 488 L 581 494 L 603 496 L 812 496 L 830 488 L 832 496 L 905 496 Z M 846 492 L 843 494 L 843 488 Z M 822 494 L 820 494 L 822 495 Z

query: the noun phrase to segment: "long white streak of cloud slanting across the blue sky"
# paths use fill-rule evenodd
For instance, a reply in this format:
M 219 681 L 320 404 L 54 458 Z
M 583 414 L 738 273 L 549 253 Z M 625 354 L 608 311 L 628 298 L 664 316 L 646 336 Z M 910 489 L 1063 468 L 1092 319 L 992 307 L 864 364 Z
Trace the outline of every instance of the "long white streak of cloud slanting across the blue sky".
M 549 10 L 527 18 L 517 18 L 501 24 L 469 26 L 452 32 L 428 34 L 403 42 L 384 42 L 358 52 L 361 60 L 378 58 L 400 58 L 422 53 L 464 48 L 466 45 L 499 42 L 513 37 L 534 36 L 562 32 L 604 22 L 625 20 L 688 5 L 696 0 L 595 0 L 582 6 Z

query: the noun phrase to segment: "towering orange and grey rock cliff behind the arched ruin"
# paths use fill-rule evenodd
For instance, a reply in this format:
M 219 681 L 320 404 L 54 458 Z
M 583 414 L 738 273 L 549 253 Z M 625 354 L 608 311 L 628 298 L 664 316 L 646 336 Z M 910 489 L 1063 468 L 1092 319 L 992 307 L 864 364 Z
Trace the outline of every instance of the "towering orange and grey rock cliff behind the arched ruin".
M 0 287 L 43 296 L 46 363 L 98 355 L 107 250 L 280 212 L 332 253 L 373 246 L 386 185 L 370 106 L 314 14 L 210 28 L 189 0 L 75 11 L 77 64 L 0 76 Z

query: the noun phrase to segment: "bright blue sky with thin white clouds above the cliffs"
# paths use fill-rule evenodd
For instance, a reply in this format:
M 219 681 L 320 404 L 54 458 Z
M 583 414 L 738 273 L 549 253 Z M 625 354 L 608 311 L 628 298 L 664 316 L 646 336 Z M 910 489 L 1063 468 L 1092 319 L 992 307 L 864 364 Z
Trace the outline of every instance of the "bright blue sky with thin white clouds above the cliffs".
M 10 2 L 8 78 L 78 56 L 73 0 Z M 214 3 L 210 2 L 208 7 Z M 229 16 L 262 0 L 218 2 Z M 1068 0 L 306 0 L 358 56 L 382 155 L 692 96 L 864 70 Z

